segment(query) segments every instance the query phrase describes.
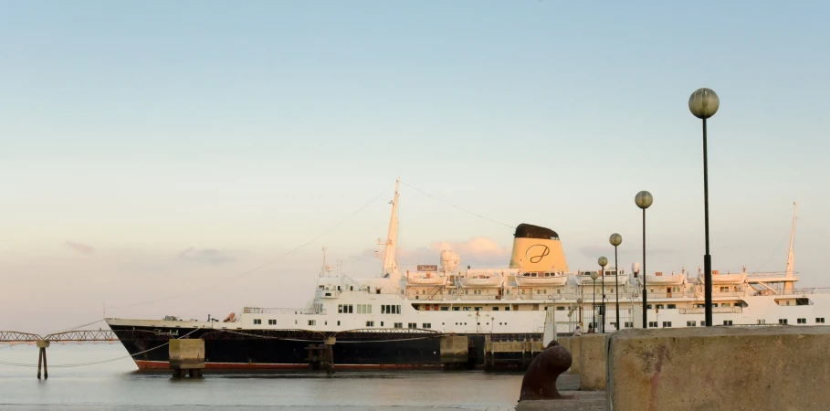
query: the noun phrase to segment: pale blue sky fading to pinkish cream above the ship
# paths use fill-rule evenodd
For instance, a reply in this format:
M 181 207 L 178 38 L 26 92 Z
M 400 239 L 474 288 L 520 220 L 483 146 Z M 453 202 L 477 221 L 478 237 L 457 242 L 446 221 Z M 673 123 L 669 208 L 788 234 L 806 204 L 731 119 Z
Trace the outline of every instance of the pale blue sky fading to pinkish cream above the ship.
M 296 307 L 328 262 L 697 272 L 700 87 L 714 269 L 823 278 L 830 4 L 0 2 L 0 329 Z M 426 194 L 428 195 L 426 195 Z M 467 211 L 465 211 L 467 210 Z M 482 217 L 483 216 L 483 217 Z M 612 259 L 613 260 L 613 259 Z M 106 311 L 105 311 L 106 309 Z

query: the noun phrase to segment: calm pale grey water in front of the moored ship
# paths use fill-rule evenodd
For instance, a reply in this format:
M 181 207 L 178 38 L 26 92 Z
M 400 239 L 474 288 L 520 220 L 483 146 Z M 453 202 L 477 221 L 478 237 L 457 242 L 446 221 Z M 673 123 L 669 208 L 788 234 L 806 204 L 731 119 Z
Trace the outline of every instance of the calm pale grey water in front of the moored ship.
M 173 381 L 168 373 L 139 373 L 132 360 L 75 368 L 126 355 L 119 344 L 52 344 L 49 379 L 37 368 L 0 364 L 0 409 L 152 410 L 512 410 L 521 374 L 481 371 L 339 371 L 205 374 Z M 0 363 L 37 364 L 37 348 L 0 344 Z

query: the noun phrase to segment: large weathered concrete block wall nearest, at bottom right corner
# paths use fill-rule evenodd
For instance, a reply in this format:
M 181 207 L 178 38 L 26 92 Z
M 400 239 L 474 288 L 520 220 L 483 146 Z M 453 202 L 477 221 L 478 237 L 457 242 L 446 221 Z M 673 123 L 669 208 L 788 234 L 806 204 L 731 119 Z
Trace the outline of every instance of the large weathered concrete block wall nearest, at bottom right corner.
M 827 409 L 827 347 L 828 326 L 615 332 L 608 409 Z

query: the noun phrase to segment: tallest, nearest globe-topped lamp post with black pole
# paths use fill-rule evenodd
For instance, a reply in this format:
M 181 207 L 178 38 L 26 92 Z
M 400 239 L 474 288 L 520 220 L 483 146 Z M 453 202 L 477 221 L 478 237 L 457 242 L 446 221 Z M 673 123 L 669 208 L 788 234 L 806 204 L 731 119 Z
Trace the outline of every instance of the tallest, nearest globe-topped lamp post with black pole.
M 703 224 L 706 231 L 706 255 L 703 256 L 706 284 L 706 326 L 712 326 L 712 257 L 709 255 L 709 163 L 706 156 L 706 119 L 715 115 L 720 107 L 718 95 L 711 89 L 698 89 L 688 98 L 688 111 L 703 120 Z

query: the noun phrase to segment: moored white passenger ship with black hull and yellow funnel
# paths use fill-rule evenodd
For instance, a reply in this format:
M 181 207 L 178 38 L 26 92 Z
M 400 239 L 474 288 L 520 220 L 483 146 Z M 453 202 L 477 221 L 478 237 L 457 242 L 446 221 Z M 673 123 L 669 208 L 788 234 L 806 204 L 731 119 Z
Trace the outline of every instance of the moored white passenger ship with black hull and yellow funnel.
M 488 341 L 541 341 L 548 314 L 558 335 L 706 325 L 700 270 L 696 277 L 686 269 L 646 275 L 635 263 L 631 272 L 614 267 L 572 272 L 562 239 L 547 227 L 516 227 L 510 262 L 502 269 L 464 268 L 452 250 L 443 250 L 437 264 L 398 267 L 399 188 L 400 179 L 375 277 L 334 272 L 324 254 L 314 297 L 301 308 L 245 307 L 223 321 L 173 316 L 105 321 L 140 369 L 167 369 L 167 342 L 198 338 L 205 341 L 205 368 L 229 370 L 308 368 L 313 350 L 323 343 L 331 346 L 339 369 L 437 368 L 445 336 L 467 336 L 466 365 L 476 367 L 484 364 Z M 794 287 L 797 205 L 795 210 L 785 271 L 712 271 L 711 325 L 825 323 L 830 292 Z

